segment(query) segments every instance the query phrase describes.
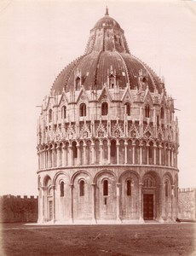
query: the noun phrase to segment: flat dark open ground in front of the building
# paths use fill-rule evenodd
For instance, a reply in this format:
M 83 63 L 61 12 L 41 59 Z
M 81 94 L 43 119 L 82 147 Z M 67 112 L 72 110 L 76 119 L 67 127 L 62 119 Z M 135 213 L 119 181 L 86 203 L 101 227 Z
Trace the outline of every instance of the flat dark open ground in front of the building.
M 196 255 L 196 224 L 2 224 L 0 255 Z

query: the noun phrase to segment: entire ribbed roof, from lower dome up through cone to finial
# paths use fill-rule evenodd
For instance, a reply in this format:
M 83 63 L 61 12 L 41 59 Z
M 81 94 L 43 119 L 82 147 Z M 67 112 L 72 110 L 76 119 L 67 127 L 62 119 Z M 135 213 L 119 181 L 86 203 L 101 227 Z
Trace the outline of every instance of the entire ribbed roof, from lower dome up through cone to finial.
M 104 25 L 105 24 L 105 25 Z M 65 67 L 53 84 L 52 91 L 101 90 L 113 77 L 120 89 L 148 86 L 150 91 L 161 92 L 163 84 L 150 67 L 130 55 L 124 31 L 118 22 L 106 15 L 90 31 L 85 54 Z M 143 85 L 142 85 L 143 84 Z

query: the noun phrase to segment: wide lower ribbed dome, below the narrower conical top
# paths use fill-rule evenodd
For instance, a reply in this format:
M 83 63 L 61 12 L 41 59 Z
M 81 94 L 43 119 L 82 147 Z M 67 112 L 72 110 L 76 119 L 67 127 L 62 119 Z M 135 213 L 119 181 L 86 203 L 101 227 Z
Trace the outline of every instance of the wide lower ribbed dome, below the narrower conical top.
M 55 90 L 56 94 L 61 94 L 63 89 L 66 92 L 80 90 L 75 83 L 77 79 L 81 79 L 85 90 L 101 90 L 112 73 L 120 89 L 125 89 L 127 84 L 130 84 L 130 89 L 139 88 L 140 78 L 149 90 L 162 89 L 158 76 L 135 56 L 107 50 L 93 51 L 73 61 L 60 73 L 52 90 Z

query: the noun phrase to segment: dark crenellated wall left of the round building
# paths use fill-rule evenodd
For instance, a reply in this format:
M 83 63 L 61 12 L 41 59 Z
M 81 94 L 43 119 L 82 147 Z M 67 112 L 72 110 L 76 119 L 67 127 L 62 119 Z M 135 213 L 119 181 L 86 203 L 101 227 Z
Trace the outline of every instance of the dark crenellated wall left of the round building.
M 37 222 L 37 197 L 0 196 L 0 222 Z

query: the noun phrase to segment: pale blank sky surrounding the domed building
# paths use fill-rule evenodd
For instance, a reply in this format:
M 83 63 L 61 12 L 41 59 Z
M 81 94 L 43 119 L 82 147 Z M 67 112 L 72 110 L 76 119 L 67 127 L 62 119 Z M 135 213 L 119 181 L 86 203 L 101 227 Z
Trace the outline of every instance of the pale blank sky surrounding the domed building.
M 164 76 L 179 109 L 179 187 L 196 187 L 196 2 L 0 0 L 0 195 L 37 195 L 36 106 L 106 6 L 130 52 Z

